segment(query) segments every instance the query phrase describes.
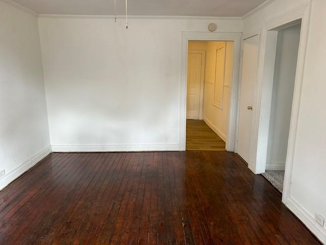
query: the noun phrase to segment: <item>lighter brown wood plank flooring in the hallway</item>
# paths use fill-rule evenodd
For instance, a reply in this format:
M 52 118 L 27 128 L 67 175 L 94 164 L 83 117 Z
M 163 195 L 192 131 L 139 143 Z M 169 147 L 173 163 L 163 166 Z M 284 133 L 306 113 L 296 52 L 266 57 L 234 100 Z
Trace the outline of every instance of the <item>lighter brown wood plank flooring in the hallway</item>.
M 187 119 L 186 150 L 225 151 L 225 142 L 203 120 Z

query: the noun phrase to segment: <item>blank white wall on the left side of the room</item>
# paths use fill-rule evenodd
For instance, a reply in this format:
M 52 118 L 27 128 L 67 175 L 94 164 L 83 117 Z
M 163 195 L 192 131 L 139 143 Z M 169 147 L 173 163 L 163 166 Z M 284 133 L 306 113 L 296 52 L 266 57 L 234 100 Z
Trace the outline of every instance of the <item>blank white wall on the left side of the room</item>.
M 0 1 L 0 189 L 50 152 L 38 30 Z

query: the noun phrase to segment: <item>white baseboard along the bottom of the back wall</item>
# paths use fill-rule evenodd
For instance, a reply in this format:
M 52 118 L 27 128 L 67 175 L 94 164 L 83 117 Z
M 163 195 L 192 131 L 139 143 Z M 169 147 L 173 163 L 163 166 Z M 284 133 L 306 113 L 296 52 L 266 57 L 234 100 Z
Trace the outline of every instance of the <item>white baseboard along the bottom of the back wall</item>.
M 180 144 L 112 144 L 112 145 L 51 145 L 52 152 L 144 152 L 180 151 Z

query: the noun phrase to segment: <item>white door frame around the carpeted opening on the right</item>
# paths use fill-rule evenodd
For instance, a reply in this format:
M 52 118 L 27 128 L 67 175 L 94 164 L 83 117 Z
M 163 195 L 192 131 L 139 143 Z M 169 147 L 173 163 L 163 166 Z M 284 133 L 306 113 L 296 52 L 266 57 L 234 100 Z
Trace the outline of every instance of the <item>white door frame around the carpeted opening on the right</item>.
M 290 197 L 290 187 L 292 180 L 292 169 L 295 153 L 295 141 L 296 131 L 298 125 L 298 114 L 300 111 L 301 92 L 304 75 L 304 65 L 306 58 L 306 47 L 308 40 L 309 31 L 309 19 L 310 19 L 310 8 L 311 2 L 298 6 L 280 16 L 266 21 L 262 28 L 261 43 L 259 48 L 258 58 L 258 71 L 257 71 L 257 96 L 254 101 L 254 115 L 253 115 L 253 137 L 254 143 L 253 148 L 253 161 L 249 167 L 255 174 L 260 174 L 265 171 L 266 167 L 266 155 L 267 155 L 267 141 L 268 141 L 268 127 L 269 127 L 269 116 L 267 115 L 268 106 L 265 106 L 265 100 L 268 101 L 268 95 L 264 92 L 263 86 L 266 80 L 270 78 L 265 76 L 265 55 L 268 48 L 266 48 L 268 32 L 273 31 L 278 27 L 284 26 L 287 23 L 301 19 L 301 33 L 300 33 L 300 44 L 298 49 L 296 73 L 295 73 L 295 84 L 292 101 L 291 111 L 291 122 L 290 131 L 287 147 L 287 156 L 285 164 L 285 176 L 283 185 L 282 202 L 288 205 L 288 199 Z M 268 118 L 266 118 L 268 117 Z M 268 126 L 267 126 L 268 124 Z M 266 130 L 267 129 L 267 130 Z M 267 135 L 267 137 L 266 137 Z

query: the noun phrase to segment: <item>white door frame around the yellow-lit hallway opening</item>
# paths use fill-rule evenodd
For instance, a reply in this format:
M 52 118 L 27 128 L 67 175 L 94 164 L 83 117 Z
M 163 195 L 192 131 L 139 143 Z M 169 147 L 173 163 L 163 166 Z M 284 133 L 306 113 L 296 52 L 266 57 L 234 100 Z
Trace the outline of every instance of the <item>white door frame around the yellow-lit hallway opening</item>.
M 187 59 L 188 41 L 233 41 L 233 67 L 232 83 L 230 94 L 230 109 L 228 117 L 228 137 L 226 140 L 226 150 L 234 151 L 235 130 L 236 130 L 236 110 L 237 110 L 237 90 L 240 60 L 241 33 L 205 33 L 205 32 L 182 32 L 181 33 L 181 84 L 180 84 L 180 151 L 185 151 L 185 127 L 186 127 L 186 99 L 187 99 Z

